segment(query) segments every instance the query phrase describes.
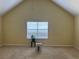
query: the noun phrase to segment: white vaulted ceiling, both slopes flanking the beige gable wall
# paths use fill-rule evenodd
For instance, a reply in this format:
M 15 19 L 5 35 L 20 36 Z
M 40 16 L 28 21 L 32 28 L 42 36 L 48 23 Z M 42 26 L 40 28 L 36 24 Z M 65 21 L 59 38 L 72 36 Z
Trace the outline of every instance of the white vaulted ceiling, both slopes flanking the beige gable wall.
M 0 0 L 0 16 L 10 11 L 23 0 Z M 79 15 L 79 0 L 52 0 L 72 15 Z

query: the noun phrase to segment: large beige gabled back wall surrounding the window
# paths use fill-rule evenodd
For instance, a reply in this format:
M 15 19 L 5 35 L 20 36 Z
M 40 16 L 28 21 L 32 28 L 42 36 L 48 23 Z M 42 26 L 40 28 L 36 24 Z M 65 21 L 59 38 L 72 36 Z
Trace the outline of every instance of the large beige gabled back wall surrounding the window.
M 27 44 L 25 21 L 48 21 L 45 45 L 72 45 L 73 16 L 50 0 L 26 0 L 3 17 L 4 44 Z

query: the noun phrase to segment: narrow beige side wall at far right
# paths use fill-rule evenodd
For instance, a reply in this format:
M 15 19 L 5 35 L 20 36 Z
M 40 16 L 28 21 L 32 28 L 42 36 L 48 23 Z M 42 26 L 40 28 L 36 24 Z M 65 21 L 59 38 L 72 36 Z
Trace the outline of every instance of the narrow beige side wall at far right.
M 79 16 L 75 17 L 75 47 L 79 48 Z

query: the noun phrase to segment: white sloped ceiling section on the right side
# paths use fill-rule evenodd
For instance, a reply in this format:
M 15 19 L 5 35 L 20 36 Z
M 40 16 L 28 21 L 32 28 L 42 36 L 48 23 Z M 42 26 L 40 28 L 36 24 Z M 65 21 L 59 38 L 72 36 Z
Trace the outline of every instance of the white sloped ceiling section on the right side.
M 79 0 L 52 0 L 74 16 L 79 15 Z

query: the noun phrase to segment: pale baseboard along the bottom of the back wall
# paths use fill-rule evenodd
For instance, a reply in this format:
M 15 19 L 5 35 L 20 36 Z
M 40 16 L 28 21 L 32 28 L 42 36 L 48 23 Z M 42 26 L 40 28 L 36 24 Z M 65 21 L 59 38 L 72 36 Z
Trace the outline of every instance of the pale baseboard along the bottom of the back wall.
M 29 46 L 28 44 L 3 44 L 3 46 Z M 72 45 L 43 45 L 47 47 L 73 47 Z

